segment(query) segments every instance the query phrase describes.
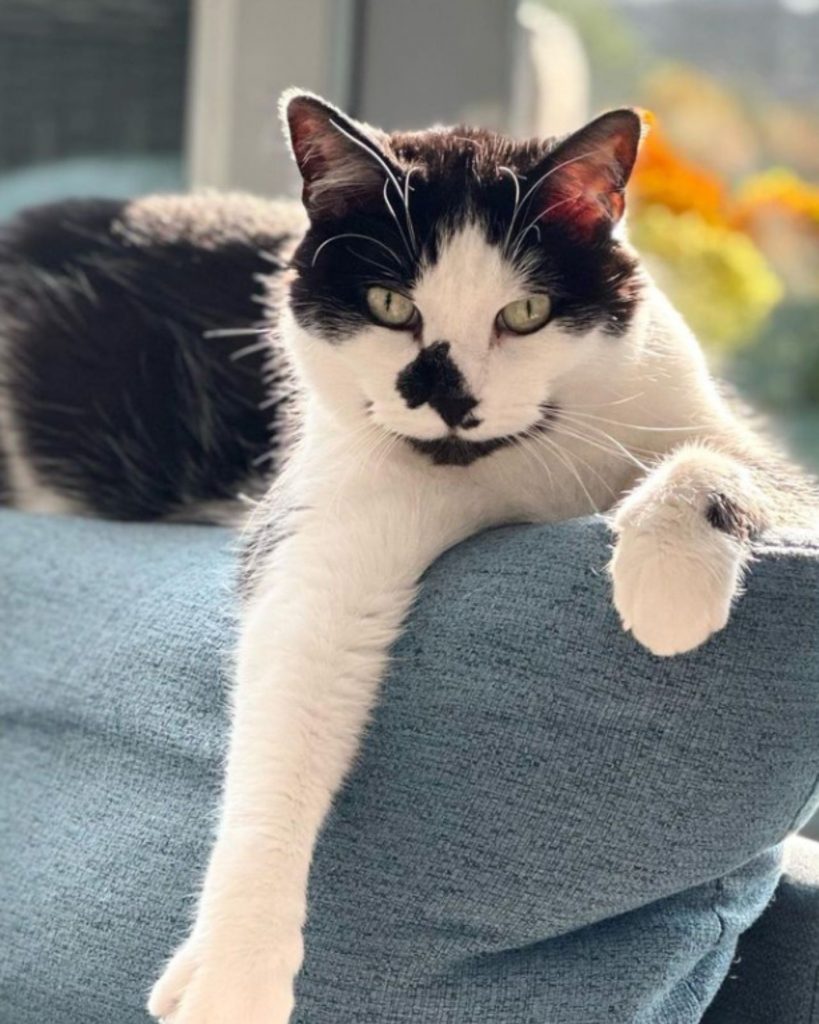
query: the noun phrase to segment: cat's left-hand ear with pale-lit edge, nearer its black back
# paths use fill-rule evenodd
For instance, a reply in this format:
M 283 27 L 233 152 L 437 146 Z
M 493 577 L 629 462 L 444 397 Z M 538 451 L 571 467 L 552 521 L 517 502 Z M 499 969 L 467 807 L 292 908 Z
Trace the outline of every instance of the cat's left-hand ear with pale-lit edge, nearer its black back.
M 339 217 L 380 200 L 389 176 L 400 175 L 384 133 L 320 97 L 289 89 L 279 110 L 304 182 L 302 202 L 312 219 Z

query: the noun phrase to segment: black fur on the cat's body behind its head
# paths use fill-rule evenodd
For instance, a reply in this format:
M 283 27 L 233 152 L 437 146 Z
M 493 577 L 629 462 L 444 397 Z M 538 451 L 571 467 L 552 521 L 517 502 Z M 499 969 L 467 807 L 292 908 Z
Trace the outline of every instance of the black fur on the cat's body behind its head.
M 49 488 L 149 519 L 234 499 L 275 443 L 260 337 L 206 333 L 259 325 L 260 250 L 283 236 L 273 216 L 253 237 L 202 239 L 138 217 L 126 229 L 128 214 L 74 201 L 2 228 L 2 400 Z

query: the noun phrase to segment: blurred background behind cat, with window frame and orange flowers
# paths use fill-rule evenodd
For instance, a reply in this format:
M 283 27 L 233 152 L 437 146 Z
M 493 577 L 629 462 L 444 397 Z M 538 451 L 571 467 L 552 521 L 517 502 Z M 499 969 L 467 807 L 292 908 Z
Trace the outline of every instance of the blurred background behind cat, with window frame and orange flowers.
M 631 234 L 716 369 L 819 468 L 819 0 L 2 0 L 0 218 L 296 182 L 298 84 L 389 128 L 653 115 Z

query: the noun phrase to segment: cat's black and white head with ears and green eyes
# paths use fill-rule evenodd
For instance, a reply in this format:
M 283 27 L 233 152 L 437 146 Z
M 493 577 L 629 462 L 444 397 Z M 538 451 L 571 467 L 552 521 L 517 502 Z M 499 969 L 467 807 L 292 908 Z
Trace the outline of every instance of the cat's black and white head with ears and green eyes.
M 518 142 L 388 135 L 304 92 L 282 110 L 309 217 L 291 344 L 340 415 L 468 464 L 546 429 L 572 376 L 628 357 L 641 279 L 616 228 L 635 112 Z

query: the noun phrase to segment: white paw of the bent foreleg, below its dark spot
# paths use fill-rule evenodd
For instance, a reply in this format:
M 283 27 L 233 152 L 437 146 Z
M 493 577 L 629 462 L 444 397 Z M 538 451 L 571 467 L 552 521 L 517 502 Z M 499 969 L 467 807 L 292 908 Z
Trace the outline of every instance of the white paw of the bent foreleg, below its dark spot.
M 735 540 L 697 521 L 618 523 L 609 571 L 623 629 L 653 654 L 693 650 L 727 624 L 739 593 L 742 552 Z

